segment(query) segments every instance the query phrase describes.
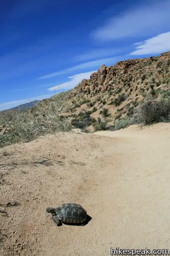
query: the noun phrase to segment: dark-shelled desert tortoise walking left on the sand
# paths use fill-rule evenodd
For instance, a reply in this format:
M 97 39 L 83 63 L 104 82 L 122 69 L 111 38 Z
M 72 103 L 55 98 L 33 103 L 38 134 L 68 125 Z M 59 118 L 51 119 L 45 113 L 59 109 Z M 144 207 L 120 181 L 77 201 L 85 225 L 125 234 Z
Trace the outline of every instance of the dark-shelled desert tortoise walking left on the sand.
M 47 213 L 52 213 L 52 219 L 57 224 L 61 226 L 62 223 L 65 224 L 81 224 L 85 225 L 87 221 L 86 210 L 76 203 L 65 203 L 57 208 L 46 208 Z

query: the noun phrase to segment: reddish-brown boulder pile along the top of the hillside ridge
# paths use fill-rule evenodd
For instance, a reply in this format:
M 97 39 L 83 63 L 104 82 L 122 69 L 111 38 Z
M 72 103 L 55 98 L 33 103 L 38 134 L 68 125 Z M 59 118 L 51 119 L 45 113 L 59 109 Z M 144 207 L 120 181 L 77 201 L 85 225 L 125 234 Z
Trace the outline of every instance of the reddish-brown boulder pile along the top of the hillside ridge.
M 76 90 L 83 94 L 89 94 L 90 90 L 92 95 L 115 86 L 130 87 L 147 83 L 158 86 L 164 78 L 170 78 L 170 51 L 157 57 L 119 61 L 110 67 L 102 64 L 90 79 L 83 79 Z

